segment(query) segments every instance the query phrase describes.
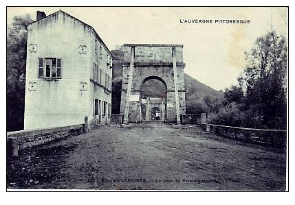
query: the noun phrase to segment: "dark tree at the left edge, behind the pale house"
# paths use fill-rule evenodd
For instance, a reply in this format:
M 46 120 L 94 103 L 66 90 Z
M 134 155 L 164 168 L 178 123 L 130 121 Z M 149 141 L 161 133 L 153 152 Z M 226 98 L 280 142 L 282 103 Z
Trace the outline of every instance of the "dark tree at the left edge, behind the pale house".
M 14 16 L 7 33 L 6 58 L 6 128 L 23 130 L 25 108 L 25 62 L 27 53 L 27 26 L 32 23 L 29 14 Z

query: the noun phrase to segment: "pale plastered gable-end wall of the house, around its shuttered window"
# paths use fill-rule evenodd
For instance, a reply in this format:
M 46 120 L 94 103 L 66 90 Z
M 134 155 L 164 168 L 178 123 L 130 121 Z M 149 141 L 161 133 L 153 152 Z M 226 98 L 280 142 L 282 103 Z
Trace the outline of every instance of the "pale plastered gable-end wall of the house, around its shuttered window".
M 32 23 L 28 30 L 25 130 L 82 124 L 85 116 L 91 119 L 93 97 L 101 93 L 94 94 L 89 80 L 93 75 L 93 29 L 60 11 Z M 38 77 L 39 58 L 61 58 L 61 79 Z M 99 97 L 108 101 L 105 95 Z

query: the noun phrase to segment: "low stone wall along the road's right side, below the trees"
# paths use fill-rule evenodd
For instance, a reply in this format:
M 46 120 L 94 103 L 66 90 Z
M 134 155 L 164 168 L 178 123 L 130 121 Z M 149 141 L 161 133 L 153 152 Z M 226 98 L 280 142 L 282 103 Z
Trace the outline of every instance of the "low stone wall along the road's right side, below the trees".
M 213 132 L 219 136 L 237 139 L 250 143 L 259 143 L 263 145 L 272 145 L 274 147 L 286 147 L 286 130 L 261 130 L 252 128 L 238 128 L 225 125 L 213 125 L 202 123 L 202 128 L 207 132 Z

